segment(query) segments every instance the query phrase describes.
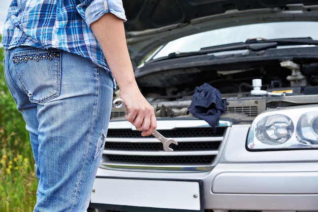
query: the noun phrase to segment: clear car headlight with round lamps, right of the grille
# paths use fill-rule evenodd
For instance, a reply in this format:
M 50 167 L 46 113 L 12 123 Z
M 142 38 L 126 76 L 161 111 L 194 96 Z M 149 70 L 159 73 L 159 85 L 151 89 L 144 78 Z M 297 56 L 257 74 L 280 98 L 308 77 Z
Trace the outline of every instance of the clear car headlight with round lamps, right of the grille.
M 261 113 L 253 120 L 246 144 L 249 150 L 318 148 L 317 106 Z

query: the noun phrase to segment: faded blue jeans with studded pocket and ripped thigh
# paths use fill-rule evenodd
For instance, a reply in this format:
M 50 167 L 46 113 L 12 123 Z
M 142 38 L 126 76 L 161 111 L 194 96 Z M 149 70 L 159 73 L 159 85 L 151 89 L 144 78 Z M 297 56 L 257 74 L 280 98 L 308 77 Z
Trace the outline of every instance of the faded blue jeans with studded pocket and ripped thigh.
M 65 51 L 17 47 L 6 51 L 5 77 L 37 167 L 34 211 L 86 211 L 110 119 L 110 73 Z

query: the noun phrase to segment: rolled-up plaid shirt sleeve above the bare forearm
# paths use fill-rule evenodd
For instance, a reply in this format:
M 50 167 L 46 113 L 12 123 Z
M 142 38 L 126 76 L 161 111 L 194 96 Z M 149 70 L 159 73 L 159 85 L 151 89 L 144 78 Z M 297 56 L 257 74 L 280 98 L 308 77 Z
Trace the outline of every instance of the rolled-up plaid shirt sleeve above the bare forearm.
M 88 27 L 106 13 L 112 13 L 126 21 L 122 0 L 83 0 L 77 5 L 77 11 L 82 16 Z

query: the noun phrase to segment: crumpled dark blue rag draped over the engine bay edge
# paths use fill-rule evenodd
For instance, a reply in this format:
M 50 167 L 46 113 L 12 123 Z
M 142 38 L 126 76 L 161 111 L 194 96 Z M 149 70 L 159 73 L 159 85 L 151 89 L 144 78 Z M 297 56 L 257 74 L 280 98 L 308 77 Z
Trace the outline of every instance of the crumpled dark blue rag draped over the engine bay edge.
M 189 112 L 209 123 L 215 132 L 216 121 L 225 112 L 226 107 L 227 101 L 221 98 L 219 90 L 204 83 L 196 87 Z

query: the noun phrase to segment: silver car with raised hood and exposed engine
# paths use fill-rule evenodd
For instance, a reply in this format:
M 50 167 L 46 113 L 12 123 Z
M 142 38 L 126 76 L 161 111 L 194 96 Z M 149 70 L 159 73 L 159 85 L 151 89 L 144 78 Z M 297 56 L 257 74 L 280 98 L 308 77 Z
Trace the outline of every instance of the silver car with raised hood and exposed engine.
M 318 211 L 318 1 L 123 4 L 138 85 L 178 145 L 113 108 L 88 211 Z

